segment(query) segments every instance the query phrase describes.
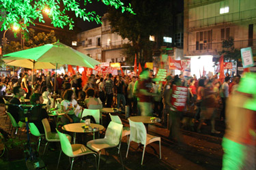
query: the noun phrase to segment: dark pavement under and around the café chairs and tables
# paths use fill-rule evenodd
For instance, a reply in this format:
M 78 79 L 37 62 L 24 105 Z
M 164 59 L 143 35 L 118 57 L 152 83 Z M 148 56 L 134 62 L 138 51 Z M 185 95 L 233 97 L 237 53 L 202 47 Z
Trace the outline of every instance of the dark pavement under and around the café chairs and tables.
M 5 120 L 0 115 L 0 128 L 9 132 L 10 120 L 5 124 Z M 128 126 L 128 120 L 123 119 L 125 126 Z M 195 124 L 197 126 L 197 124 Z M 184 135 L 184 144 L 179 145 L 170 141 L 167 136 L 169 131 L 163 129 L 161 124 L 155 124 L 149 126 L 149 133 L 158 135 L 162 139 L 162 160 L 158 158 L 159 148 L 158 142 L 152 143 L 152 147 L 147 147 L 145 150 L 144 165 L 141 166 L 142 149 L 138 149 L 137 143 L 131 143 L 128 158 L 125 158 L 127 144 L 126 138 L 122 139 L 122 158 L 124 161 L 125 169 L 221 169 L 223 150 L 221 147 L 221 141 L 223 136 L 223 122 L 217 121 L 216 128 L 218 131 L 222 131 L 220 135 L 210 135 L 210 125 L 203 126 L 202 134 L 182 131 Z M 21 139 L 27 139 L 25 132 L 21 133 Z M 37 141 L 35 137 L 32 137 L 32 141 Z M 154 148 L 154 150 L 152 149 Z M 42 152 L 44 144 L 40 146 L 40 157 L 44 160 L 47 169 L 56 169 L 57 160 L 59 158 L 59 148 L 57 150 L 48 150 L 44 156 Z M 155 152 L 156 151 L 156 152 Z M 95 160 L 93 156 L 88 156 L 87 163 L 84 163 L 82 167 L 82 160 L 78 159 L 74 162 L 73 169 L 96 169 Z M 102 160 L 100 161 L 100 169 L 122 169 L 120 164 L 120 158 L 116 149 L 108 150 L 107 153 L 102 152 Z M 8 161 L 6 155 L 0 158 L 0 169 L 27 169 L 25 165 L 25 159 Z M 70 169 L 69 159 L 66 155 L 62 154 L 61 163 L 59 169 Z

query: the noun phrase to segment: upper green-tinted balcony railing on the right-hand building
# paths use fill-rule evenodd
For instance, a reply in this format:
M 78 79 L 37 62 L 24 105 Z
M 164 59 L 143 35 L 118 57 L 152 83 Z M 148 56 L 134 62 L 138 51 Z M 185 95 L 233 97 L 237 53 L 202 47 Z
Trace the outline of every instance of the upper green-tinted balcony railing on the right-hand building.
M 197 27 L 205 27 L 205 26 L 212 26 L 214 24 L 223 24 L 225 22 L 236 22 L 239 20 L 245 19 L 256 19 L 256 10 L 246 10 L 242 12 L 235 12 L 231 14 L 223 14 L 221 16 L 214 16 L 210 18 L 204 18 L 201 20 L 193 20 L 188 22 L 188 27 L 190 29 L 197 28 Z

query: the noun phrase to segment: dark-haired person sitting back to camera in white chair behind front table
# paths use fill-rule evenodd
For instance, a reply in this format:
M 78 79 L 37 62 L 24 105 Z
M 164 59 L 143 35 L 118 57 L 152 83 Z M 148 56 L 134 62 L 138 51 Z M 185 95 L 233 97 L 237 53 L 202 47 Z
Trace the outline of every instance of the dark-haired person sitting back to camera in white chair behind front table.
M 85 99 L 85 105 L 88 109 L 90 109 L 90 106 L 94 107 L 92 109 L 102 109 L 102 103 L 95 97 L 95 91 L 94 88 L 88 88 L 86 90 L 87 99 Z

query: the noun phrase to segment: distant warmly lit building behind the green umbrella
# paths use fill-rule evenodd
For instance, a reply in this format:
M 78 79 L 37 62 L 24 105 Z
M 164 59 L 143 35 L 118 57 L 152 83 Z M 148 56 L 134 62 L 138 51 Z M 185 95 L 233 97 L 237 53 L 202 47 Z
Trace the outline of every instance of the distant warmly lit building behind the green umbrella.
M 102 63 L 125 62 L 123 45 L 130 43 L 128 39 L 122 39 L 118 33 L 113 33 L 107 14 L 102 17 L 101 27 L 79 33 L 77 41 L 77 50 Z

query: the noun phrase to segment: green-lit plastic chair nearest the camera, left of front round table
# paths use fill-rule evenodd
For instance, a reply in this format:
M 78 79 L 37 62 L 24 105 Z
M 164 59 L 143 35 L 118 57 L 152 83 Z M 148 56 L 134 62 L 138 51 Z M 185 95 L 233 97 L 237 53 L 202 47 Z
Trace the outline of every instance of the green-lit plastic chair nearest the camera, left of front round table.
M 75 157 L 84 156 L 87 154 L 94 154 L 94 156 L 96 158 L 95 152 L 92 152 L 91 150 L 89 150 L 89 148 L 87 148 L 83 144 L 70 144 L 70 141 L 68 140 L 68 137 L 66 134 L 60 133 L 57 129 L 56 129 L 56 131 L 59 135 L 59 139 L 61 142 L 61 152 L 64 152 L 64 154 L 66 154 L 67 156 L 72 158 L 72 163 L 71 163 L 70 169 L 72 169 L 72 167 L 73 167 Z M 59 153 L 59 160 L 61 158 L 61 152 Z M 59 167 L 59 160 L 58 160 L 58 164 L 57 164 L 57 169 Z M 96 160 L 96 168 L 97 168 L 97 160 Z

